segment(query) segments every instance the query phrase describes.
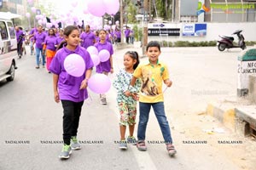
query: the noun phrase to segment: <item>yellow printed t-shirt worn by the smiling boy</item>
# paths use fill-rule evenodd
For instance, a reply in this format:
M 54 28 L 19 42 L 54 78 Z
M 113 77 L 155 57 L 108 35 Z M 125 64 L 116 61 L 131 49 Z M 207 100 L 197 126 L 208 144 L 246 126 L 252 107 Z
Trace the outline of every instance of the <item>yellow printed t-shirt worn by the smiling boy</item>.
M 134 77 L 142 78 L 142 88 L 139 95 L 139 101 L 143 103 L 157 103 L 164 101 L 162 92 L 162 83 L 169 79 L 169 71 L 165 64 L 157 65 L 147 64 L 138 65 L 133 73 Z

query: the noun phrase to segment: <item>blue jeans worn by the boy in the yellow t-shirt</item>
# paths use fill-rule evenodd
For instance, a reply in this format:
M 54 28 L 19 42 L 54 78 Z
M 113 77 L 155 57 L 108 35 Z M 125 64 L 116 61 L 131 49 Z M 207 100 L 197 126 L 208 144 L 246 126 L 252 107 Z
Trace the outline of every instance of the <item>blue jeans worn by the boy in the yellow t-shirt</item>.
M 160 125 L 160 129 L 161 129 L 161 132 L 165 139 L 166 144 L 169 144 L 169 143 L 172 144 L 171 130 L 170 130 L 167 118 L 166 118 L 164 102 L 158 102 L 158 103 L 139 102 L 140 116 L 139 116 L 139 124 L 138 124 L 138 128 L 137 128 L 137 139 L 145 140 L 145 133 L 146 133 L 148 116 L 149 116 L 151 105 L 154 109 L 154 114 L 155 114 L 157 121 Z

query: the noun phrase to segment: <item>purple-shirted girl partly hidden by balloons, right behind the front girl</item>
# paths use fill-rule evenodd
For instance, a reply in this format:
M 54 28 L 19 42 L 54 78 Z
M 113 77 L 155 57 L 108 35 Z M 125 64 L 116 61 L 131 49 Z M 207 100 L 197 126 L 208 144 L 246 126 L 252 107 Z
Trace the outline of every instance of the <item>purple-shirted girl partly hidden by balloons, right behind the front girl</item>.
M 108 76 L 108 73 L 113 73 L 113 46 L 112 43 L 107 41 L 107 31 L 101 30 L 99 31 L 99 37 L 100 37 L 100 42 L 96 42 L 94 45 L 98 51 L 100 52 L 102 49 L 107 49 L 110 57 L 107 61 L 101 62 L 99 65 L 96 65 L 96 72 L 97 73 L 102 73 Z M 100 100 L 102 105 L 107 105 L 107 99 L 106 99 L 106 94 L 100 94 Z

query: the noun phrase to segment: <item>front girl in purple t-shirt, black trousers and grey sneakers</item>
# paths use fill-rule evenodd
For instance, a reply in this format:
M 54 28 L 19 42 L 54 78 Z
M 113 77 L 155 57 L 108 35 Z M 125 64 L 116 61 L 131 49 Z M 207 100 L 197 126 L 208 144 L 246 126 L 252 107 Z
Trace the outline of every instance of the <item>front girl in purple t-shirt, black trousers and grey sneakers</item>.
M 64 30 L 67 46 L 57 51 L 52 60 L 49 71 L 53 73 L 53 88 L 55 102 L 63 107 L 63 140 L 64 145 L 60 158 L 67 159 L 73 150 L 81 148 L 77 133 L 79 128 L 79 117 L 82 111 L 84 99 L 88 98 L 87 81 L 90 78 L 93 62 L 90 54 L 85 48 L 79 46 L 79 28 L 67 26 Z M 62 47 L 62 46 L 61 46 Z M 81 77 L 73 77 L 68 74 L 64 60 L 69 54 L 79 54 L 85 63 L 85 71 Z

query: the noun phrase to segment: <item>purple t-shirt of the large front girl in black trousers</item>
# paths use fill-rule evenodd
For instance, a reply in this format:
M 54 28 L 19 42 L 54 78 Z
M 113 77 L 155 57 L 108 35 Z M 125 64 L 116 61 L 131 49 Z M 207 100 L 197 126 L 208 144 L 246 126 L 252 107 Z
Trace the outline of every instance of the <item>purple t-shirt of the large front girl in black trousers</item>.
M 73 77 L 67 73 L 64 67 L 64 60 L 69 54 L 79 54 L 85 63 L 85 71 L 81 77 Z M 87 89 L 79 89 L 81 82 L 85 78 L 85 72 L 93 67 L 93 62 L 90 59 L 90 54 L 85 48 L 78 46 L 74 51 L 70 51 L 66 47 L 61 48 L 55 54 L 49 71 L 59 76 L 58 91 L 60 99 L 70 100 L 73 102 L 81 102 L 88 98 Z

